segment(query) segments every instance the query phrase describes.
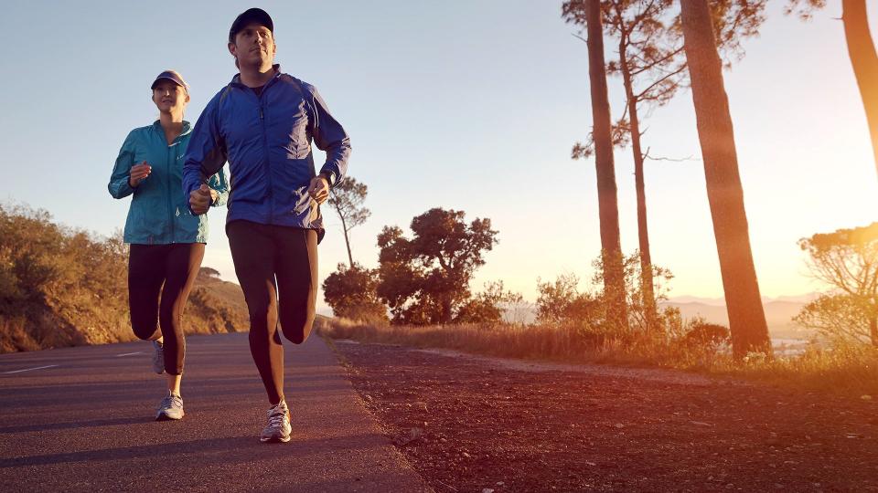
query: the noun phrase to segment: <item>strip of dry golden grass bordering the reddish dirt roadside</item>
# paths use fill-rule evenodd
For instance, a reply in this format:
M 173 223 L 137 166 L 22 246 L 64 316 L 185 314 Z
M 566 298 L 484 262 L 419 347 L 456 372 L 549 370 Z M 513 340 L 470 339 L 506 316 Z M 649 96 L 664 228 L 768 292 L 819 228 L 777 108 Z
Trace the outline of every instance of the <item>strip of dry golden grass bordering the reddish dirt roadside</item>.
M 620 337 L 563 326 L 375 326 L 333 319 L 323 320 L 318 330 L 331 339 L 548 362 L 659 366 L 878 398 L 878 349 L 862 345 L 814 347 L 798 356 L 767 361 L 754 354 L 735 362 L 727 351 L 692 347 L 679 339 Z

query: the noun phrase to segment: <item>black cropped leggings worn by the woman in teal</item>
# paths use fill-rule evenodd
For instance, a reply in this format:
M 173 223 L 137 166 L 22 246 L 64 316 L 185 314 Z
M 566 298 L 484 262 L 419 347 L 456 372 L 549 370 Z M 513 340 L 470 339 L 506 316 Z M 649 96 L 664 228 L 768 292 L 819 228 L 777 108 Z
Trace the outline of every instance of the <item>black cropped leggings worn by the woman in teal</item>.
M 165 371 L 172 375 L 183 374 L 183 309 L 203 258 L 203 243 L 132 244 L 128 256 L 131 327 L 145 341 L 164 337 Z

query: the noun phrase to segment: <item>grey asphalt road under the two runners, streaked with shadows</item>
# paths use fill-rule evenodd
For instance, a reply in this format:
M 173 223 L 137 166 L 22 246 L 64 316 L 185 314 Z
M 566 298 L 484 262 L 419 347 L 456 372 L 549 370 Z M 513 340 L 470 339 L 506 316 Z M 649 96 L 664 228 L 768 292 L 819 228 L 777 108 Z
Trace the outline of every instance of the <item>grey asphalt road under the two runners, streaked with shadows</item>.
M 187 338 L 178 422 L 148 342 L 0 356 L 0 491 L 429 491 L 324 341 L 284 348 L 287 444 L 259 441 L 247 334 Z

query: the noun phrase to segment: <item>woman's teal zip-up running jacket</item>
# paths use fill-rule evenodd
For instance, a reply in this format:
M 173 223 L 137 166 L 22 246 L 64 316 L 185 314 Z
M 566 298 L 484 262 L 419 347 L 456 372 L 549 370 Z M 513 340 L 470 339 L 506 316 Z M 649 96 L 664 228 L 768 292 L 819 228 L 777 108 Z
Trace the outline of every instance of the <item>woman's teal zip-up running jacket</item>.
M 183 132 L 167 145 L 159 121 L 134 129 L 125 138 L 107 188 L 117 199 L 134 194 L 125 221 L 125 243 L 166 245 L 207 243 L 208 216 L 192 215 L 183 195 L 183 160 L 192 127 L 183 122 Z M 134 164 L 146 162 L 152 173 L 132 188 L 128 176 Z M 208 185 L 217 191 L 212 205 L 224 205 L 229 184 L 222 169 L 210 176 Z

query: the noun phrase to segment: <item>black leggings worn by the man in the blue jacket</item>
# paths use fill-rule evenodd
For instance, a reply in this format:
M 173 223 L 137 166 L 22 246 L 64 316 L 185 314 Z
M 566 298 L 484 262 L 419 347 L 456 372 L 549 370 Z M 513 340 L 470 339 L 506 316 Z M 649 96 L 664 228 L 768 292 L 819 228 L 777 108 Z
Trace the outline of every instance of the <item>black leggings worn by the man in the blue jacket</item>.
M 250 351 L 269 402 L 284 399 L 284 347 L 311 333 L 317 296 L 317 233 L 250 221 L 226 225 L 235 273 L 250 311 Z M 280 300 L 278 300 L 280 299 Z

